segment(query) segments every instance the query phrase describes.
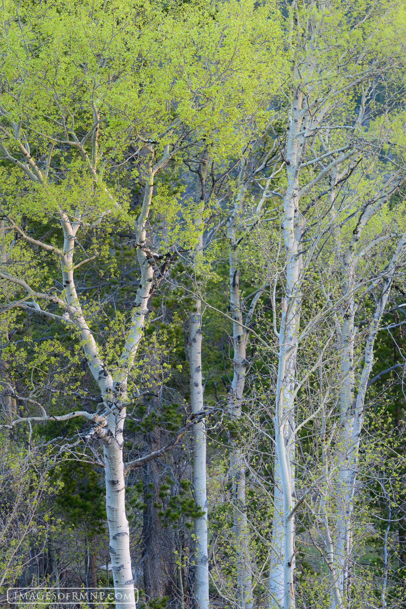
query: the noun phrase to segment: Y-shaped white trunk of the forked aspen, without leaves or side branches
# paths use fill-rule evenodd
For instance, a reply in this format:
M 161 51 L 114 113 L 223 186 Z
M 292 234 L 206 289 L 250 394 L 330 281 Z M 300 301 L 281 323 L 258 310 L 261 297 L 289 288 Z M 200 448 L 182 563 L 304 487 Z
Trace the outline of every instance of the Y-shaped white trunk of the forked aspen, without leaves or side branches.
M 141 282 L 136 294 L 135 310 L 131 319 L 130 331 L 119 361 L 119 372 L 114 382 L 105 365 L 100 360 L 96 342 L 83 318 L 75 290 L 72 259 L 74 237 L 79 225 L 72 227 L 66 216 L 61 217 L 61 224 L 65 235 L 63 249 L 65 257 L 61 263 L 66 300 L 75 309 L 75 315 L 74 317 L 71 315 L 71 317 L 82 331 L 83 349 L 89 368 L 100 387 L 103 399 L 107 404 L 110 404 L 111 410 L 113 410 L 106 417 L 107 428 L 100 429 L 97 435 L 103 441 L 103 453 L 106 464 L 106 510 L 110 533 L 109 551 L 117 609 L 121 609 L 121 607 L 135 609 L 134 581 L 130 555 L 130 531 L 125 513 L 125 480 L 122 455 L 125 407 L 122 407 L 121 403 L 125 403 L 127 398 L 128 373 L 133 365 L 136 350 L 142 337 L 144 319 L 148 312 L 147 301 L 152 286 L 153 267 L 143 248 L 146 237 L 145 224 L 149 216 L 152 200 L 153 175 L 151 157 L 147 163 L 144 202 L 136 224 L 137 245 L 140 246 L 137 248 L 137 258 L 141 269 Z

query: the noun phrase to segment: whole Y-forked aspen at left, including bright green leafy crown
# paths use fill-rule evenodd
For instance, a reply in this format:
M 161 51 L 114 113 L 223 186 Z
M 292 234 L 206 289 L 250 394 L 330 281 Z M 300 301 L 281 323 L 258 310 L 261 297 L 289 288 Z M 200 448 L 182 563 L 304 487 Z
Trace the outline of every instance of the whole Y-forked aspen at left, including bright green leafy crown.
M 88 421 L 91 429 L 80 437 L 86 442 L 98 438 L 103 446 L 114 587 L 120 591 L 124 586 L 130 609 L 135 606 L 135 596 L 125 474 L 169 451 L 189 429 L 186 426 L 168 446 L 124 463 L 126 407 L 133 396 L 141 395 L 131 375 L 147 323 L 148 303 L 175 258 L 172 250 L 162 263 L 162 256 L 147 243 L 156 176 L 185 150 L 194 147 L 198 151 L 201 133 L 220 158 L 236 143 L 241 146 L 246 136 L 234 125 L 248 107 L 251 121 L 266 122 L 263 105 L 273 77 L 268 64 L 275 49 L 271 48 L 272 38 L 261 33 L 268 10 L 255 12 L 250 2 L 218 8 L 215 19 L 200 4 L 161 12 L 145 3 L 110 6 L 99 2 L 89 7 L 86 2 L 67 1 L 15 7 L 10 2 L 3 13 L 1 44 L 7 62 L 1 78 L 9 93 L 2 96 L 0 108 L 0 147 L 9 171 L 5 191 L 14 180 L 21 200 L 15 205 L 12 198 L 5 197 L 1 213 L 7 228 L 18 234 L 25 247 L 58 261 L 62 290 L 55 295 L 47 287 L 37 289 L 42 283 L 35 273 L 15 269 L 12 258 L 2 265 L 0 276 L 17 295 L 12 307 L 79 333 L 86 364 L 102 397 L 94 413 L 75 410 L 47 415 L 36 402 L 40 417 L 15 417 L 10 428 L 25 422 Z M 251 28 L 247 41 L 239 37 L 242 24 Z M 198 38 L 197 28 L 205 33 L 203 38 Z M 193 38 L 184 46 L 185 31 L 195 32 L 199 44 L 208 45 L 204 57 Z M 149 49 L 148 60 L 145 49 Z M 245 63 L 250 53 L 259 60 L 255 70 L 262 79 L 250 78 L 255 65 L 254 61 Z M 235 91 L 244 93 L 237 104 Z M 135 150 L 131 154 L 130 146 Z M 116 167 L 130 162 L 131 157 L 144 191 L 136 217 L 127 213 L 126 194 L 115 174 Z M 61 245 L 46 243 L 44 236 L 32 238 L 23 218 L 58 225 Z M 77 291 L 75 270 L 98 255 L 94 249 L 86 252 L 81 235 L 109 222 L 131 227 L 140 280 L 131 319 L 124 328 L 124 345 L 107 365 L 110 356 L 103 354 L 94 336 L 88 309 L 83 308 Z M 75 264 L 79 250 L 80 254 L 85 251 L 85 258 Z M 13 254 L 12 243 L 9 251 Z M 19 298 L 21 293 L 23 298 Z M 49 306 L 57 306 L 61 314 L 49 311 Z M 194 426 L 199 425 L 195 419 Z M 207 603 L 207 567 L 202 590 Z M 117 600 L 117 607 L 120 605 Z

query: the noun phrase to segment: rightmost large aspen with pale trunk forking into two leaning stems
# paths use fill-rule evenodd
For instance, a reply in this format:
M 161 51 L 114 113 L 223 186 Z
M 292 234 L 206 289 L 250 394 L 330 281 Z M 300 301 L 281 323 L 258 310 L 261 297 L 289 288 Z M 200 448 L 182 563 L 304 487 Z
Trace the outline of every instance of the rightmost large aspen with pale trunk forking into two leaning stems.
M 365 111 L 364 91 L 360 114 Z M 394 122 L 399 119 L 394 118 Z M 371 163 L 372 169 L 373 163 Z M 349 572 L 351 571 L 352 554 L 352 518 L 354 510 L 354 493 L 357 477 L 357 462 L 362 432 L 362 423 L 365 412 L 365 394 L 368 386 L 368 379 L 374 362 L 374 343 L 379 329 L 382 315 L 390 295 L 391 285 L 394 276 L 399 273 L 404 259 L 404 235 L 399 239 L 396 233 L 391 232 L 394 223 L 398 223 L 396 216 L 390 217 L 388 209 L 385 209 L 391 199 L 406 179 L 404 161 L 399 157 L 397 171 L 391 172 L 390 176 L 379 183 L 376 177 L 376 191 L 369 192 L 368 200 L 362 211 L 355 215 L 353 224 L 350 224 L 352 231 L 349 234 L 348 243 L 344 245 L 345 236 L 337 231 L 334 234 L 335 247 L 337 251 L 337 262 L 340 269 L 341 289 L 340 305 L 334 306 L 336 297 L 327 289 L 324 290 L 326 302 L 331 308 L 335 323 L 335 331 L 340 342 L 340 428 L 341 436 L 339 446 L 341 447 L 338 455 L 338 475 L 337 475 L 337 538 L 335 544 L 331 544 L 329 561 L 331 564 L 332 586 L 335 593 L 332 595 L 332 607 L 341 607 L 346 602 L 349 591 Z M 336 213 L 334 201 L 331 199 L 332 213 Z M 385 217 L 385 220 L 378 219 L 377 216 Z M 402 226 L 401 220 L 401 226 Z M 353 228 L 354 227 L 354 228 Z M 380 232 L 378 232 L 380 230 Z M 374 275 L 366 280 L 366 269 L 371 264 L 372 256 L 379 251 L 382 244 L 390 241 L 397 241 L 391 258 L 383 266 L 382 272 L 376 270 Z M 385 247 L 385 245 L 383 245 Z M 375 253 L 376 256 L 376 253 Z M 375 298 L 375 306 L 365 329 L 364 357 L 365 362 L 360 373 L 359 381 L 356 381 L 355 370 L 355 344 L 359 343 L 359 330 L 355 323 L 357 309 L 360 308 L 360 295 L 363 292 L 363 283 L 366 283 L 366 294 L 376 295 L 377 290 L 381 290 L 379 297 Z M 383 284 L 382 289 L 380 289 Z M 358 385 L 358 387 L 357 387 Z M 354 398 L 354 390 L 357 387 L 357 394 Z M 329 528 L 326 524 L 326 529 Z M 335 579 L 337 578 L 337 579 Z

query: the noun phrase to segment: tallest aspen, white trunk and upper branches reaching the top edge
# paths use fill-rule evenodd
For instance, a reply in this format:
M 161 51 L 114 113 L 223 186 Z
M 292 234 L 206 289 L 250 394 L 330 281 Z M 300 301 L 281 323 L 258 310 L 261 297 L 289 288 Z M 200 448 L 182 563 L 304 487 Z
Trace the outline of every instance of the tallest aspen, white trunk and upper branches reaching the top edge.
M 289 8 L 287 26 L 292 85 L 286 107 L 288 124 L 284 131 L 285 147 L 281 147 L 287 180 L 282 193 L 281 225 L 285 286 L 278 333 L 279 363 L 275 392 L 275 552 L 271 558 L 271 607 L 278 607 L 282 600 L 284 609 L 291 609 L 295 605 L 295 471 L 292 463 L 295 455 L 293 404 L 298 382 L 296 354 L 300 335 L 301 284 L 310 261 L 309 252 L 315 251 L 320 239 L 320 235 L 314 237 L 313 245 L 306 248 L 305 262 L 303 239 L 310 229 L 306 216 L 316 205 L 318 196 L 328 196 L 335 188 L 336 181 L 345 180 L 352 171 L 348 161 L 359 155 L 357 138 L 360 133 L 356 123 L 342 124 L 337 111 L 350 91 L 363 82 L 378 78 L 380 72 L 391 69 L 387 56 L 377 52 L 376 41 L 383 21 L 393 18 L 393 8 L 385 4 L 380 5 L 373 17 L 366 7 L 360 7 L 360 12 L 354 13 L 351 23 L 346 21 L 334 2 L 323 2 L 317 7 L 312 5 L 311 9 L 310 5 L 302 7 L 293 2 Z M 326 49 L 333 30 L 340 30 L 340 41 L 334 36 L 334 52 L 329 53 Z M 358 32 L 362 32 L 362 49 Z M 396 62 L 396 57 L 393 62 Z M 341 137 L 338 135 L 340 130 Z M 323 181 L 334 174 L 338 166 L 345 169 L 341 169 L 340 175 L 333 178 L 326 194 L 319 194 Z M 283 586 L 278 555 L 283 558 Z

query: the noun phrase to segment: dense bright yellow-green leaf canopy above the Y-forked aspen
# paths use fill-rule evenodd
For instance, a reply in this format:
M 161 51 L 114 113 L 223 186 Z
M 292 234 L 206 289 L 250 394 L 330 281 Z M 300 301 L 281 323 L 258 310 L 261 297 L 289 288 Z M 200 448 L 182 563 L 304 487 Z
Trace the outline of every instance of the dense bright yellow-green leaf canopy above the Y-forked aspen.
M 194 3 L 161 10 L 159 4 L 100 1 L 91 9 L 85 2 L 54 2 L 19 10 L 14 19 L 10 2 L 2 13 L 3 77 L 13 90 L 4 90 L 2 106 L 9 120 L 21 121 L 15 146 L 27 132 L 40 147 L 71 143 L 69 152 L 54 152 L 60 171 L 66 164 L 75 171 L 99 163 L 102 176 L 138 134 L 158 147 L 175 144 L 181 125 L 224 161 L 250 137 L 253 122 L 268 120 L 280 43 L 272 5 Z M 80 149 L 73 132 L 83 130 L 90 135 Z

